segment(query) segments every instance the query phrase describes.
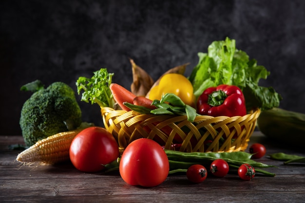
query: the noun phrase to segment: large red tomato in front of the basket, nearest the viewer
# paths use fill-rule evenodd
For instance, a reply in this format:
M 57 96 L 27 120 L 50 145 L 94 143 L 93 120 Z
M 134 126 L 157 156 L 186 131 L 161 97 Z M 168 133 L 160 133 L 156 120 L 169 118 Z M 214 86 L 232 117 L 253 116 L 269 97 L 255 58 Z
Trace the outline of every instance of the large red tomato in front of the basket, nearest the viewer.
M 129 185 L 154 187 L 165 181 L 170 163 L 163 148 L 155 141 L 140 138 L 125 148 L 119 172 Z

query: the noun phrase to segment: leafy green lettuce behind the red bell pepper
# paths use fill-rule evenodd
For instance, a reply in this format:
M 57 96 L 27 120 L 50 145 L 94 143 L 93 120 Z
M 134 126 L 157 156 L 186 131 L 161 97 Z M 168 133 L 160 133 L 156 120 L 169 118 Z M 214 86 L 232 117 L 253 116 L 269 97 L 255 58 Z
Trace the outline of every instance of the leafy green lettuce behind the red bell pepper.
M 224 41 L 214 41 L 208 47 L 208 53 L 198 53 L 198 56 L 199 62 L 189 77 L 196 97 L 209 87 L 226 84 L 243 91 L 248 111 L 279 106 L 281 95 L 272 87 L 258 84 L 260 79 L 267 79 L 270 72 L 257 65 L 255 59 L 249 59 L 246 52 L 236 49 L 234 39 L 227 37 Z

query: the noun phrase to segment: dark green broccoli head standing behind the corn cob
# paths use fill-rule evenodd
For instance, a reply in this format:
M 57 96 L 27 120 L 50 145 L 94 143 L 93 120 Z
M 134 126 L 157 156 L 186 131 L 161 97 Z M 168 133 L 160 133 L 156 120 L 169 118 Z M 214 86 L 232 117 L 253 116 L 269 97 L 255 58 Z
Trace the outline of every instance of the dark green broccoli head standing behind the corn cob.
M 46 89 L 36 89 L 24 102 L 19 120 L 27 146 L 50 135 L 76 129 L 82 122 L 81 110 L 70 86 L 54 82 Z

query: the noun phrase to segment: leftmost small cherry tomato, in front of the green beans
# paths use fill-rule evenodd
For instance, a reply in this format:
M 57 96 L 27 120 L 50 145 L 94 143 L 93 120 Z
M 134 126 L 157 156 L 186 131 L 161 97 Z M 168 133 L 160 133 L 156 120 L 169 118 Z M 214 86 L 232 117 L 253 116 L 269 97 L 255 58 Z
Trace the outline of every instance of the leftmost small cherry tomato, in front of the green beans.
M 207 169 L 205 168 L 205 166 L 202 166 L 200 164 L 192 165 L 187 170 L 187 178 L 192 183 L 201 183 L 206 180 L 207 176 Z

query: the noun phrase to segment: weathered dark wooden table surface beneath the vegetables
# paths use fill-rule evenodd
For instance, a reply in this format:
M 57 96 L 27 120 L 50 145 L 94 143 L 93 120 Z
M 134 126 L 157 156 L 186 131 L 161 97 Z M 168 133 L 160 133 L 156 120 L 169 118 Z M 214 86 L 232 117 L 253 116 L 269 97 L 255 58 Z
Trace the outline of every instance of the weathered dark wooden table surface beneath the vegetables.
M 255 131 L 251 143 L 266 146 L 267 154 L 285 152 L 305 156 L 296 150 L 276 144 Z M 0 203 L 229 203 L 229 202 L 305 202 L 305 165 L 284 165 L 265 156 L 257 161 L 278 168 L 266 170 L 275 177 L 257 174 L 252 181 L 242 181 L 237 174 L 208 178 L 191 184 L 185 175 L 170 175 L 164 183 L 152 188 L 127 185 L 118 173 L 83 173 L 71 163 L 57 166 L 23 166 L 15 161 L 20 150 L 8 148 L 23 143 L 21 136 L 0 136 Z

